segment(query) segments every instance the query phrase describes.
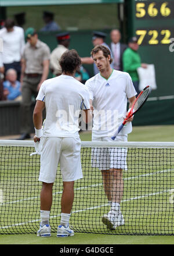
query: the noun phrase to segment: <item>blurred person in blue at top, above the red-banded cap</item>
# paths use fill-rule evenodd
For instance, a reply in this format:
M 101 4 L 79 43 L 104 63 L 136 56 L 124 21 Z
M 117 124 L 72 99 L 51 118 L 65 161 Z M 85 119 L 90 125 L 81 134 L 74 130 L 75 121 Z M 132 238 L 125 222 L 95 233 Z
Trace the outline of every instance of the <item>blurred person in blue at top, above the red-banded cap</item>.
M 59 31 L 60 26 L 54 22 L 54 13 L 45 11 L 43 13 L 43 19 L 45 22 L 45 26 L 42 27 L 41 31 Z

